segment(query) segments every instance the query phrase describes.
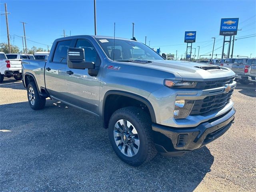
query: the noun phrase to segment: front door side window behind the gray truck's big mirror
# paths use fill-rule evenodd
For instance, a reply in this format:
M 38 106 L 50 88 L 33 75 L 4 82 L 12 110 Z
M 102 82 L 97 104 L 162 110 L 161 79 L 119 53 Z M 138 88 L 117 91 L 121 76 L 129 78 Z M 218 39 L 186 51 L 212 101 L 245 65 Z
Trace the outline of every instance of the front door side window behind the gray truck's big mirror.
M 89 40 L 78 39 L 76 42 L 76 48 L 84 48 L 86 62 L 94 62 L 95 66 L 100 66 L 100 57 Z

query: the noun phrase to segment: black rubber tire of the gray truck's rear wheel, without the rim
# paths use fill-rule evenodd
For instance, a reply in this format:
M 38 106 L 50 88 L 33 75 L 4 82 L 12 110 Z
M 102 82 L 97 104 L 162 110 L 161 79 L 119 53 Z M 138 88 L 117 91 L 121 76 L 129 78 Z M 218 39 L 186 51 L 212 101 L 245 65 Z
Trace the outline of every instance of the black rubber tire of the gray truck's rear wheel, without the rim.
M 32 88 L 32 90 L 34 91 L 34 105 L 30 102 L 30 98 L 29 98 L 29 90 L 30 88 Z M 30 107 L 34 110 L 40 110 L 42 108 L 44 108 L 45 106 L 45 102 L 46 102 L 46 98 L 45 97 L 41 97 L 38 93 L 37 87 L 36 87 L 36 83 L 34 81 L 30 82 L 28 84 L 27 87 L 27 96 L 28 96 L 28 103 L 30 105 Z

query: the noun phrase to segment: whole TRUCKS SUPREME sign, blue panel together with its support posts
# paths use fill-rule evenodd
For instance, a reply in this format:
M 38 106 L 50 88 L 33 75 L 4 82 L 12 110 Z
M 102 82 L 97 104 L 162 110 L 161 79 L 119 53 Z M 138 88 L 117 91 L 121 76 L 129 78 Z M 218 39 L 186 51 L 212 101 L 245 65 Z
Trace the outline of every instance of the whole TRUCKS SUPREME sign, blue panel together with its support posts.
M 237 34 L 238 29 L 238 20 L 239 18 L 222 18 L 220 22 L 220 35 L 224 36 L 223 46 L 222 46 L 222 56 L 224 55 L 224 46 L 225 43 L 228 42 L 228 54 L 227 58 L 229 58 L 230 47 L 231 47 L 231 38 L 232 36 Z M 229 40 L 226 40 L 226 36 L 229 36 Z

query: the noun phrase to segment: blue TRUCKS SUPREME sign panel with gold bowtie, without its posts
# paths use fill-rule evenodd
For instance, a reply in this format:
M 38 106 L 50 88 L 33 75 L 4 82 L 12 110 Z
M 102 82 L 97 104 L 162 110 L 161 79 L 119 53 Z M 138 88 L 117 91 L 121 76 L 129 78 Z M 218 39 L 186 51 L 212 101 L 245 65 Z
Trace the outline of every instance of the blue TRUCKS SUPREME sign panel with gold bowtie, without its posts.
M 237 28 L 238 28 L 238 19 L 239 18 L 221 19 L 220 35 L 224 35 L 224 36 L 236 35 Z

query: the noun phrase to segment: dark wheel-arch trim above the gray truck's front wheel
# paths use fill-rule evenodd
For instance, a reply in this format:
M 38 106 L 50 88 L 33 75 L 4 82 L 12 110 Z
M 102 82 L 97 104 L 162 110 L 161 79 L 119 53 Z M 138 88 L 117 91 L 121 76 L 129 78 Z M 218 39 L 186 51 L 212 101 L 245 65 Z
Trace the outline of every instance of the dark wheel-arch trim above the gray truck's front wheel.
M 149 112 L 150 112 L 150 117 L 151 117 L 151 120 L 153 123 L 156 123 L 156 115 L 155 115 L 155 112 L 154 112 L 154 108 L 152 106 L 152 104 L 144 97 L 142 96 L 139 96 L 137 94 L 134 94 L 134 93 L 130 93 L 130 92 L 126 92 L 126 91 L 120 91 L 120 90 L 109 90 L 108 92 L 106 92 L 106 94 L 104 95 L 104 99 L 103 99 L 103 106 L 102 106 L 102 118 L 103 118 L 103 122 L 104 122 L 104 111 L 105 111 L 105 101 L 106 101 L 106 98 L 109 96 L 109 95 L 121 95 L 121 96 L 126 96 L 126 97 L 130 97 L 130 98 L 133 98 L 133 99 L 136 99 L 142 103 L 144 103 Z

